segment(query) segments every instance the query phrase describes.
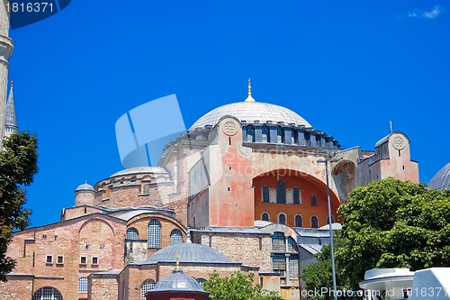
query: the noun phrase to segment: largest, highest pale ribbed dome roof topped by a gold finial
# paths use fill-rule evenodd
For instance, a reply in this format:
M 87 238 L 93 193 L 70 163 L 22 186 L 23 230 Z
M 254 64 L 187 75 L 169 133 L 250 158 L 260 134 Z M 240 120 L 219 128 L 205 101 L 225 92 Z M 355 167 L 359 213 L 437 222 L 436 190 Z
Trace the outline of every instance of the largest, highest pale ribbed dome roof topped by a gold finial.
M 221 117 L 232 115 L 239 121 L 247 123 L 266 123 L 272 121 L 274 123 L 284 122 L 285 124 L 294 123 L 298 126 L 311 127 L 311 124 L 303 119 L 299 114 L 292 110 L 279 105 L 270 105 L 262 102 L 238 102 L 229 105 L 222 105 L 211 110 L 208 114 L 203 115 L 191 126 L 190 130 L 195 128 L 203 128 L 206 125 L 214 126 L 219 123 Z

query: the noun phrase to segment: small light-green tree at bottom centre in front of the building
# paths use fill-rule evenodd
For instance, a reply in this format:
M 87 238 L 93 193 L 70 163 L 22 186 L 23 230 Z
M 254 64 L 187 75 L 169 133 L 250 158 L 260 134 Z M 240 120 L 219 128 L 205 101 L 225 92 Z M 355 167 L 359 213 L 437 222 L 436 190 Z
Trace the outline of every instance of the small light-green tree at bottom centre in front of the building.
M 230 277 L 220 277 L 214 272 L 203 283 L 203 289 L 211 293 L 211 300 L 281 300 L 275 292 L 254 286 L 253 278 L 253 274 L 243 275 L 238 271 Z

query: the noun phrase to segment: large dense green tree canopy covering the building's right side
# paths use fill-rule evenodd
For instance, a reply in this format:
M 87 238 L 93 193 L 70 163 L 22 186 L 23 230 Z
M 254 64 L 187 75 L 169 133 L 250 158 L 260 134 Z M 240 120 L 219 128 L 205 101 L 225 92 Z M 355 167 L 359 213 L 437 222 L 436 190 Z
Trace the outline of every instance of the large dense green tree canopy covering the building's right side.
M 344 219 L 334 239 L 338 286 L 359 288 L 371 268 L 450 266 L 448 190 L 394 178 L 373 181 L 353 190 L 338 214 Z M 315 268 L 305 269 L 303 280 L 310 286 L 329 286 L 329 255 L 317 259 Z

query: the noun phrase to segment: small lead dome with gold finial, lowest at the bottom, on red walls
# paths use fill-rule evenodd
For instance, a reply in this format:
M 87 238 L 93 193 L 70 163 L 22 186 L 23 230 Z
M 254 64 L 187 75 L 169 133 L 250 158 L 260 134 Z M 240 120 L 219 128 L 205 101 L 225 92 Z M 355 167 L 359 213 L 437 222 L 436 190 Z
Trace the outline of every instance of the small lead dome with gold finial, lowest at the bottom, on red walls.
M 172 274 L 159 280 L 151 293 L 181 291 L 206 293 L 193 277 L 184 275 L 181 269 L 175 269 Z

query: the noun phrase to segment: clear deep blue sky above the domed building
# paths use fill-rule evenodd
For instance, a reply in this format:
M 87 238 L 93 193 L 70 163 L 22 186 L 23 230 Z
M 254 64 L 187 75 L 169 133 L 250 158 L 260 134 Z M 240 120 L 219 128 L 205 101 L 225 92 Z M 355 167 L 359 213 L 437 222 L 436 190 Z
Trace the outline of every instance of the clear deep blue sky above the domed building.
M 32 225 L 121 169 L 121 114 L 176 94 L 188 128 L 243 101 L 247 77 L 344 148 L 374 150 L 392 120 L 428 182 L 450 161 L 449 32 L 440 0 L 73 1 L 11 32 L 19 126 L 40 139 Z

